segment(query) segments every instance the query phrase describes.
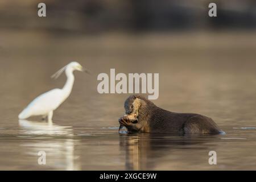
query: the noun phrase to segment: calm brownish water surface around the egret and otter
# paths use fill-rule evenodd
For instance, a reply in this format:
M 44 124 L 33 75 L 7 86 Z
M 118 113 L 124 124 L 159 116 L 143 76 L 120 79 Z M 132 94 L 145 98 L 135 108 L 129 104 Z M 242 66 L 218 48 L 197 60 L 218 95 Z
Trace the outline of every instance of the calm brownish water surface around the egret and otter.
M 2 32 L 0 169 L 256 169 L 255 34 L 67 36 Z M 236 38 L 236 39 L 235 39 Z M 71 96 L 53 115 L 18 121 L 40 93 L 64 85 L 52 73 L 77 60 Z M 208 115 L 226 135 L 118 134 L 128 94 L 98 94 L 97 75 L 159 73 L 156 105 Z M 217 152 L 217 165 L 208 152 Z M 47 154 L 38 164 L 38 152 Z

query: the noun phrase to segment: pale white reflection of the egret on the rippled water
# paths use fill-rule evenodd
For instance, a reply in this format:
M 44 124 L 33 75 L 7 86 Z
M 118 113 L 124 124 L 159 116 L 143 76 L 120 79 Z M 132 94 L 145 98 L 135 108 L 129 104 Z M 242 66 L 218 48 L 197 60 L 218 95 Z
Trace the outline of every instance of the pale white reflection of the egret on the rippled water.
M 26 148 L 26 155 L 34 156 L 38 163 L 38 152 L 46 152 L 47 169 L 79 170 L 78 155 L 75 155 L 75 144 L 79 140 L 74 139 L 71 126 L 60 126 L 49 122 L 36 122 L 19 120 L 19 137 L 27 138 L 20 143 L 20 147 Z M 44 169 L 44 165 L 42 165 Z

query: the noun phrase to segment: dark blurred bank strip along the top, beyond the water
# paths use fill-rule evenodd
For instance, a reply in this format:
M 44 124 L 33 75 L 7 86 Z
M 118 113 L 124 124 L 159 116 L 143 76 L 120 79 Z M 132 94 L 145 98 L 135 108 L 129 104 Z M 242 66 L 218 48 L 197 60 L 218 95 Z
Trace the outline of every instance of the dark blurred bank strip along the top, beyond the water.
M 109 31 L 188 31 L 252 29 L 256 26 L 254 0 L 46 0 L 47 18 L 36 15 L 41 1 L 1 1 L 1 28 L 40 30 L 51 34 L 96 34 Z M 208 16 L 217 4 L 218 18 Z

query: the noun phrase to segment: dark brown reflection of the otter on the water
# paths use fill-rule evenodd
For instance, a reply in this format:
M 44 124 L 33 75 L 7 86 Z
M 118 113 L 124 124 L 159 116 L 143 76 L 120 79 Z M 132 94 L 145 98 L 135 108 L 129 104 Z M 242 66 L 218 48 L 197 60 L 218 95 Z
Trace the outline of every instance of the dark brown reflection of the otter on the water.
M 210 137 L 212 140 L 216 138 L 217 136 Z M 179 166 L 191 167 L 195 163 L 201 166 L 208 165 L 205 162 L 208 161 L 208 152 L 214 145 L 199 150 L 205 142 L 209 142 L 209 138 L 203 140 L 200 136 L 173 136 L 159 133 L 119 135 L 120 149 L 125 152 L 126 170 L 154 170 L 161 166 L 163 169 L 180 169 Z M 204 157 L 196 158 L 195 162 L 191 158 L 193 155 L 189 153 L 191 151 L 193 151 L 193 155 L 201 154 Z

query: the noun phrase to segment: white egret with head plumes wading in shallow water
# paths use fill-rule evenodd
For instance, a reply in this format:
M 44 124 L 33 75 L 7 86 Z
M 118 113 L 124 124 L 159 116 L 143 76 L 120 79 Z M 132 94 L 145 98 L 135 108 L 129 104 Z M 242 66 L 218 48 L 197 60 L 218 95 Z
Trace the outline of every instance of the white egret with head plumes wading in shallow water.
M 57 109 L 71 93 L 75 77 L 73 71 L 85 71 L 77 62 L 71 62 L 65 67 L 57 71 L 52 78 L 57 78 L 65 71 L 67 81 L 62 89 L 52 89 L 46 93 L 36 97 L 20 114 L 19 119 L 27 119 L 31 116 L 42 115 L 43 118 L 48 117 L 48 121 L 52 121 L 53 110 Z M 87 71 L 85 71 L 87 72 Z

